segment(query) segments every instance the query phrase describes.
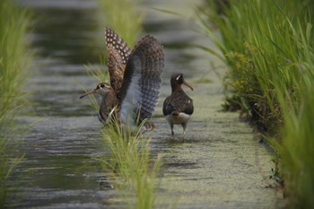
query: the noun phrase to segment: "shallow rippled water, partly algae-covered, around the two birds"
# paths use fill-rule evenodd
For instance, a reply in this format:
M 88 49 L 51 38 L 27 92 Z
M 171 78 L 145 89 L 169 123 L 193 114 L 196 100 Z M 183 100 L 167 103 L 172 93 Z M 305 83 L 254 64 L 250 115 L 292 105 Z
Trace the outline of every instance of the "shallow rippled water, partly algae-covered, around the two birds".
M 188 1 L 187 1 L 188 2 Z M 101 148 L 99 121 L 88 100 L 79 100 L 84 86 L 93 88 L 97 81 L 88 76 L 84 65 L 99 65 L 104 43 L 99 37 L 95 1 L 24 0 L 34 9 L 39 21 L 31 34 L 37 49 L 34 73 L 28 80 L 31 109 L 20 122 L 33 128 L 20 144 L 25 153 L 15 198 L 8 205 L 16 208 L 120 208 L 124 206 L 112 189 L 97 158 L 108 154 Z M 176 10 L 187 16 L 189 3 L 159 1 L 149 7 Z M 166 68 L 161 101 L 153 122 L 153 155 L 161 154 L 164 169 L 157 191 L 157 206 L 175 208 L 276 208 L 280 196 L 269 180 L 274 167 L 271 152 L 253 139 L 252 131 L 238 118 L 238 113 L 220 111 L 222 84 L 213 64 L 222 71 L 215 57 L 186 43 L 213 46 L 197 33 L 191 22 L 171 14 L 148 10 L 145 33 L 155 36 L 165 46 Z M 220 67 L 222 66 L 222 67 Z M 180 126 L 175 137 L 161 116 L 162 100 L 170 94 L 170 74 L 185 74 L 195 91 L 195 113 L 187 135 Z M 223 71 L 222 71 L 223 72 Z M 211 80 L 211 83 L 202 83 Z

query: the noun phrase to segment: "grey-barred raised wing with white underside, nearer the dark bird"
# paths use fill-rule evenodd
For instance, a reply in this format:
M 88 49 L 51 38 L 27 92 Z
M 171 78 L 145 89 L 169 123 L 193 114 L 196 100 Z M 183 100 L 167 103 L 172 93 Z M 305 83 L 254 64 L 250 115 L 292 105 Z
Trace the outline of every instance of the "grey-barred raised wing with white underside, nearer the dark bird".
M 157 39 L 145 36 L 137 43 L 126 63 L 120 91 L 120 119 L 123 123 L 140 123 L 152 117 L 159 100 L 163 67 L 161 44 Z

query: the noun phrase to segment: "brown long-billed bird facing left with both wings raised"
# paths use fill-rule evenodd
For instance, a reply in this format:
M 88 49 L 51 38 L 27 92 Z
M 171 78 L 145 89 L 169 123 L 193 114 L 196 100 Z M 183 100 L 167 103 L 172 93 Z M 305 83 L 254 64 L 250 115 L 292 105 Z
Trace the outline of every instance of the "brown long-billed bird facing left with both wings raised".
M 126 42 L 111 29 L 105 31 L 108 51 L 109 83 L 99 83 L 84 96 L 98 93 L 101 104 L 98 118 L 104 125 L 116 118 L 135 131 L 145 119 L 150 119 L 159 100 L 161 74 L 164 67 L 163 47 L 147 35 L 131 51 Z M 144 123 L 144 131 L 153 125 Z

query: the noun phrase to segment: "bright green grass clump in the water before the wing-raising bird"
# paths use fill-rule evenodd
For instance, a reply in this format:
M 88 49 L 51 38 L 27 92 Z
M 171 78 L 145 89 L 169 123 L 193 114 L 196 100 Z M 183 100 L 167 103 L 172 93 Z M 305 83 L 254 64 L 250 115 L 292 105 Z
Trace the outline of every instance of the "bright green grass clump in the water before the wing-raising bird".
M 161 161 L 151 159 L 150 138 L 138 131 L 131 133 L 126 126 L 121 128 L 117 121 L 103 129 L 103 143 L 109 151 L 109 159 L 102 162 L 109 170 L 116 185 L 135 198 L 135 205 L 129 199 L 131 208 L 146 209 L 154 206 L 154 190 Z

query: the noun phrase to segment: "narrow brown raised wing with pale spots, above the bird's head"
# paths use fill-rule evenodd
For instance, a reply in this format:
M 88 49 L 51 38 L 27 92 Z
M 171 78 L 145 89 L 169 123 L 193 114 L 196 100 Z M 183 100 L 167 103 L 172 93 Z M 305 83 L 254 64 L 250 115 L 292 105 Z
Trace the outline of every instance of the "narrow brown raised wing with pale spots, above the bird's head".
M 110 85 L 114 91 L 121 89 L 126 62 L 131 54 L 131 49 L 126 42 L 118 37 L 118 34 L 109 28 L 105 30 L 105 39 L 108 52 L 108 69 Z

